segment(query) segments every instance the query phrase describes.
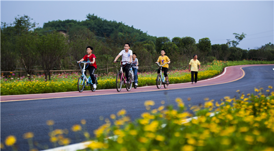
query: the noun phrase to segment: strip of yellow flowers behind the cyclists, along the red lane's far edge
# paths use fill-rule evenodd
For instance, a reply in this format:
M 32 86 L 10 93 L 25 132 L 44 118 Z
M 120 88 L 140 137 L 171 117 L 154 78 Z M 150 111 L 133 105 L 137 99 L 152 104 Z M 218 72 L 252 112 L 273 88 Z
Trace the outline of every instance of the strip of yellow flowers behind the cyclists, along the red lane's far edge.
M 274 64 L 274 61 L 213 61 L 201 67 L 198 73 L 198 80 L 212 78 L 219 75 L 227 66 L 245 65 L 245 64 Z M 155 85 L 157 73 L 145 72 L 138 73 L 138 86 Z M 169 71 L 169 82 L 184 83 L 191 82 L 191 75 L 188 70 L 172 70 Z M 51 80 L 45 82 L 44 75 L 30 75 L 19 77 L 14 73 L 9 76 L 1 75 L 0 95 L 19 95 L 19 94 L 40 94 L 40 93 L 55 93 L 55 92 L 69 92 L 78 91 L 77 80 L 80 77 L 80 72 L 73 73 L 55 73 L 51 75 Z M 99 89 L 115 89 L 116 88 L 116 74 L 102 74 L 98 78 Z M 85 88 L 90 90 L 90 87 Z

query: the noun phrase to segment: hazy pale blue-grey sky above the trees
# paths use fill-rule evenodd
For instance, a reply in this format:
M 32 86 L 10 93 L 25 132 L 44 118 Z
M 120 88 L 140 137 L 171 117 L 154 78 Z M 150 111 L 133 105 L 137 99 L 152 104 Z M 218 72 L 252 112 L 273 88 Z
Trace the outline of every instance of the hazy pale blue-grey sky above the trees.
M 235 40 L 253 49 L 274 43 L 274 1 L 0 1 L 1 22 L 28 15 L 40 27 L 52 20 L 85 20 L 88 13 L 124 22 L 152 36 L 208 37 L 211 44 Z

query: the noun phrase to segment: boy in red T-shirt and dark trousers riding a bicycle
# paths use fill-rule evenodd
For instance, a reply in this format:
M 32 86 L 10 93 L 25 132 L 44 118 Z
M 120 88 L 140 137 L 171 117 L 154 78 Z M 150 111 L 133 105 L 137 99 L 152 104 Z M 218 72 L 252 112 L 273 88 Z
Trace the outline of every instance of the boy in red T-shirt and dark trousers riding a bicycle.
M 91 46 L 87 46 L 87 55 L 85 55 L 83 57 L 83 59 L 81 59 L 80 61 L 77 61 L 78 63 L 80 63 L 81 61 L 90 61 L 90 64 L 89 66 L 86 68 L 87 70 L 89 70 L 90 72 L 90 77 L 91 77 L 91 80 L 92 80 L 92 83 L 93 83 L 93 88 L 96 88 L 96 84 L 95 84 L 95 77 L 94 77 L 94 72 L 95 70 L 97 69 L 97 65 L 96 65 L 96 57 L 94 54 L 92 54 L 92 50 L 93 50 L 93 47 Z M 87 71 L 85 71 L 85 74 L 87 73 Z

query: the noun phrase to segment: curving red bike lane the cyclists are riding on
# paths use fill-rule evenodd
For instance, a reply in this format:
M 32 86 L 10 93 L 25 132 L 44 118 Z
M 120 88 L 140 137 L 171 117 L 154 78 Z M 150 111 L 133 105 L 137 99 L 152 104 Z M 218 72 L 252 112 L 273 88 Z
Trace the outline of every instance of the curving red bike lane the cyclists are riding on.
M 123 88 L 120 92 L 117 92 L 116 89 L 105 89 L 105 90 L 96 90 L 95 92 L 83 91 L 81 93 L 78 91 L 74 91 L 74 92 L 59 92 L 59 93 L 45 93 L 45 94 L 10 95 L 10 96 L 0 96 L 0 102 L 53 99 L 53 98 L 71 98 L 71 97 L 81 97 L 81 96 L 110 95 L 110 94 L 123 94 L 123 93 L 139 93 L 139 92 L 185 89 L 185 88 L 217 85 L 217 84 L 233 82 L 243 78 L 245 76 L 245 72 L 242 69 L 243 67 L 265 66 L 265 65 L 274 65 L 274 64 L 230 66 L 230 67 L 226 67 L 222 74 L 214 78 L 198 81 L 197 84 L 191 84 L 191 82 L 169 84 L 166 89 L 163 87 L 163 85 L 160 89 L 157 89 L 156 85 L 154 85 L 154 86 L 137 87 L 137 89 L 132 88 L 131 91 L 127 91 L 126 88 Z

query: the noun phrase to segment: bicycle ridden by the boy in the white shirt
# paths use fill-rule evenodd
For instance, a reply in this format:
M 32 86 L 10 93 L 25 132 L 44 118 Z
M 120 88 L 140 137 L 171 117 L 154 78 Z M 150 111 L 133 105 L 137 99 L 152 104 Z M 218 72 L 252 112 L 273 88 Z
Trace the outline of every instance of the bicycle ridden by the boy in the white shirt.
M 118 92 L 121 91 L 122 85 L 126 85 L 127 91 L 131 91 L 132 89 L 132 84 L 133 84 L 133 74 L 129 72 L 129 84 L 127 84 L 127 78 L 123 72 L 123 62 L 128 62 L 128 61 L 116 61 L 116 62 L 121 62 L 120 65 L 120 71 L 117 73 L 116 76 L 116 89 Z

